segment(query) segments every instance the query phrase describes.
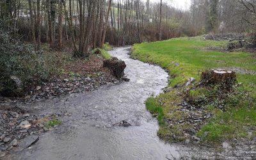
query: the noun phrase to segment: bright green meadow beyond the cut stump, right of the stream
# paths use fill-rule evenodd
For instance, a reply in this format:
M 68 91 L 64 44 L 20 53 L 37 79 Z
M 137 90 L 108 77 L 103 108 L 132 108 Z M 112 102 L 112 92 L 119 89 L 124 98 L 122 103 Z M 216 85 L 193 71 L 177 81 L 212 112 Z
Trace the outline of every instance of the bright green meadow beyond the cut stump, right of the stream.
M 227 42 L 200 40 L 200 38 L 175 38 L 163 42 L 137 44 L 132 56 L 142 61 L 167 68 L 172 76 L 170 85 L 185 83 L 189 77 L 200 79 L 200 72 L 209 68 L 239 67 L 256 70 L 252 54 L 246 52 L 206 51 L 207 47 L 224 47 Z M 175 63 L 179 63 L 175 67 Z M 239 81 L 256 85 L 256 77 L 238 75 Z

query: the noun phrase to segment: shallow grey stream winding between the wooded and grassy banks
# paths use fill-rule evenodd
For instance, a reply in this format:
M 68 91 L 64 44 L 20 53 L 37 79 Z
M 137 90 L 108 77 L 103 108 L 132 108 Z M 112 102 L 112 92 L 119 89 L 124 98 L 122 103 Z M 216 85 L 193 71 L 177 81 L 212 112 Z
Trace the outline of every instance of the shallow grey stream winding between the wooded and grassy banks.
M 125 74 L 131 81 L 33 104 L 31 108 L 45 114 L 67 111 L 72 116 L 40 136 L 33 147 L 13 154 L 13 159 L 166 159 L 170 152 L 179 156 L 175 147 L 159 140 L 157 120 L 144 104 L 168 84 L 168 74 L 129 58 L 129 47 L 110 54 L 125 61 Z M 113 125 L 122 120 L 132 126 Z

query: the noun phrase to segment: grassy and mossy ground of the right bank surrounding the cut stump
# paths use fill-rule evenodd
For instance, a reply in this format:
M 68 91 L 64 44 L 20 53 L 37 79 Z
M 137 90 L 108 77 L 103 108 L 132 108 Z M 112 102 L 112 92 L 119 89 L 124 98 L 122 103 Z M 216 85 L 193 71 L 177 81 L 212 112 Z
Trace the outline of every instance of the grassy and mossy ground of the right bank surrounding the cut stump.
M 202 37 L 174 38 L 163 42 L 136 44 L 132 56 L 141 61 L 154 63 L 170 72 L 170 92 L 163 93 L 146 102 L 147 109 L 158 114 L 158 135 L 166 141 L 183 141 L 190 125 L 170 124 L 166 120 L 179 121 L 186 117 L 177 105 L 188 97 L 198 106 L 212 113 L 212 118 L 202 124 L 196 136 L 202 141 L 219 143 L 234 138 L 253 138 L 256 134 L 256 76 L 237 74 L 238 83 L 232 93 L 225 93 L 220 98 L 218 87 L 184 87 L 189 77 L 200 81 L 202 71 L 211 68 L 241 68 L 256 71 L 256 56 L 249 52 L 220 52 L 227 46 L 227 41 L 203 40 Z M 209 48 L 219 48 L 209 51 Z M 179 88 L 174 88 L 180 86 Z M 191 88 L 190 88 L 191 89 Z M 218 108 L 223 105 L 225 110 Z

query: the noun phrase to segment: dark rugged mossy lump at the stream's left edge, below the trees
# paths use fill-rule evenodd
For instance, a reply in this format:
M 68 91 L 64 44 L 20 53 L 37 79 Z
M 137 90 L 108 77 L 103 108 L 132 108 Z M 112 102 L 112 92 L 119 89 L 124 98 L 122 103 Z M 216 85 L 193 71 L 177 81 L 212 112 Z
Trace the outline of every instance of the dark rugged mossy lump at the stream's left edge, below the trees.
M 113 75 L 120 79 L 124 76 L 124 69 L 126 68 L 126 65 L 124 61 L 113 57 L 111 60 L 104 60 L 103 67 L 107 67 L 112 70 Z

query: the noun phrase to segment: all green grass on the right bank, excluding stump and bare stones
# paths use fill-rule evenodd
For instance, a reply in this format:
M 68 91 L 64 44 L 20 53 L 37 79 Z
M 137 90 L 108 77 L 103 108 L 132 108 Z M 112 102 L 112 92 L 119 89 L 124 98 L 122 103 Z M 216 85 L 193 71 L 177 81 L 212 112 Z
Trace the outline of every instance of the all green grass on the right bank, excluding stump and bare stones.
M 202 40 L 196 38 L 175 38 L 163 42 L 136 44 L 133 47 L 132 56 L 141 61 L 156 63 L 170 71 L 170 86 L 184 84 L 189 77 L 195 77 L 200 80 L 200 73 L 209 68 L 239 67 L 246 70 L 256 71 L 256 58 L 246 52 L 219 52 L 207 51 L 207 47 L 225 47 L 227 42 L 216 42 L 211 40 Z M 179 63 L 179 66 L 175 63 Z M 205 141 L 221 141 L 224 139 L 248 137 L 248 132 L 255 129 L 256 126 L 256 76 L 248 74 L 237 74 L 239 82 L 243 83 L 241 90 L 248 92 L 248 97 L 244 102 L 236 104 L 227 104 L 232 106 L 227 112 L 218 109 L 211 109 L 215 118 L 212 118 L 209 124 L 202 127 L 198 136 Z M 179 89 L 163 93 L 156 99 L 150 98 L 146 105 L 152 113 L 159 113 L 158 120 L 160 124 L 159 136 L 166 141 L 180 141 L 185 137 L 183 132 L 191 127 L 189 125 L 175 125 L 170 129 L 163 123 L 163 118 L 177 119 L 182 118 L 182 113 L 177 111 L 179 106 L 175 104 L 181 102 L 182 95 Z M 239 97 L 235 97 L 239 99 Z M 239 100 L 238 100 L 239 101 Z M 252 104 L 253 102 L 253 104 Z M 161 105 L 160 105 L 161 104 Z M 205 135 L 207 132 L 207 135 Z M 178 138 L 173 140 L 175 134 Z M 251 136 L 255 136 L 254 131 Z

